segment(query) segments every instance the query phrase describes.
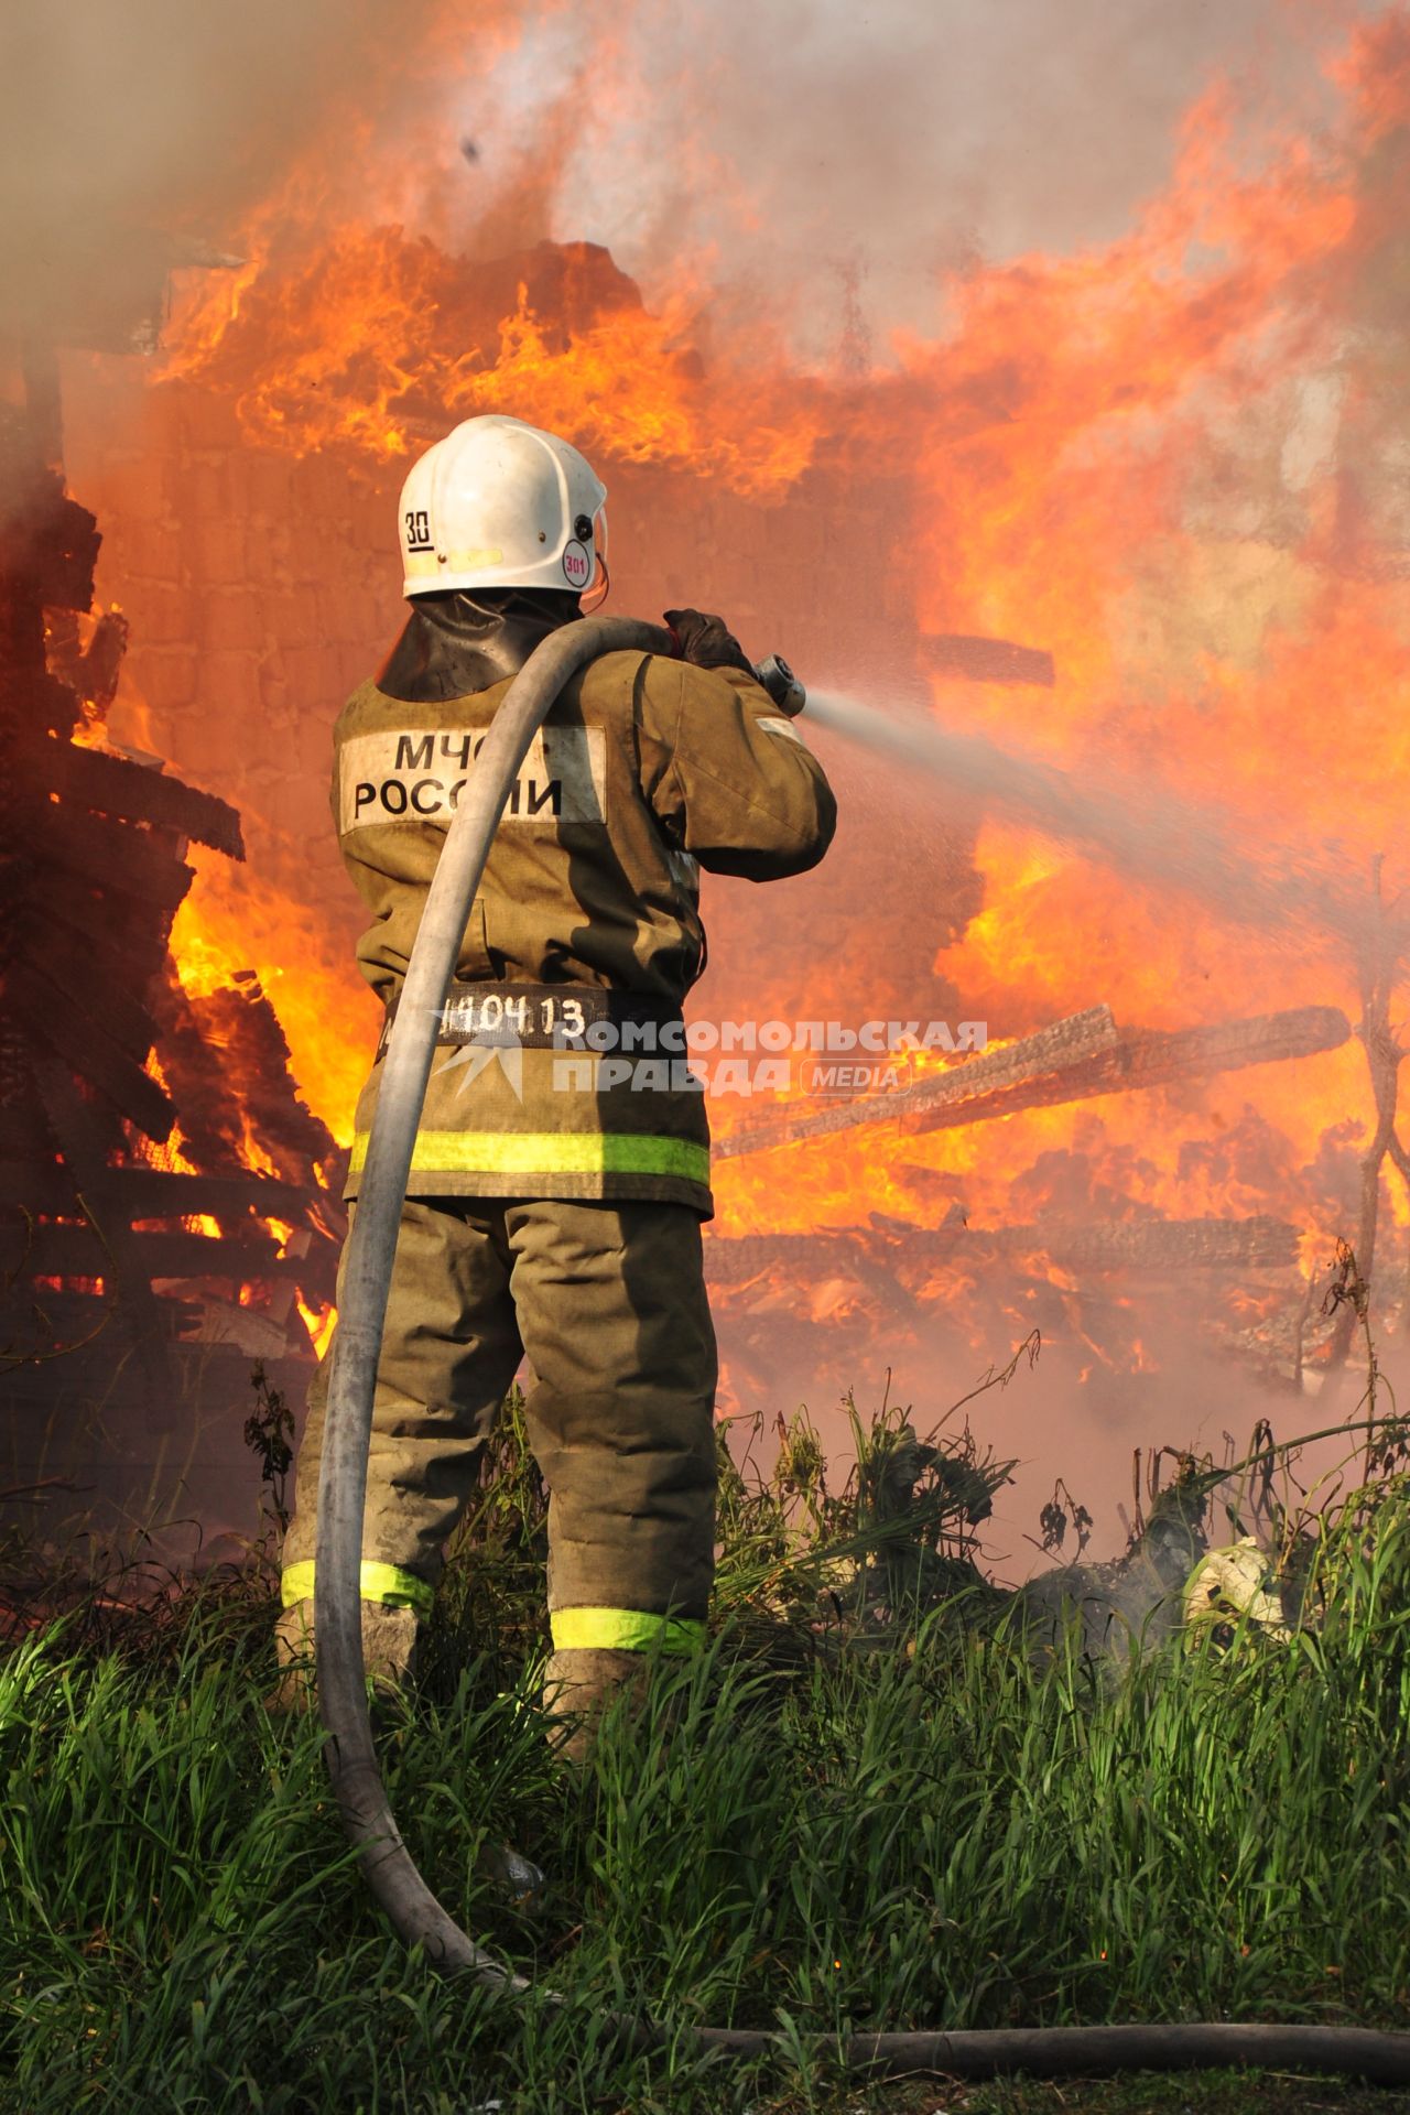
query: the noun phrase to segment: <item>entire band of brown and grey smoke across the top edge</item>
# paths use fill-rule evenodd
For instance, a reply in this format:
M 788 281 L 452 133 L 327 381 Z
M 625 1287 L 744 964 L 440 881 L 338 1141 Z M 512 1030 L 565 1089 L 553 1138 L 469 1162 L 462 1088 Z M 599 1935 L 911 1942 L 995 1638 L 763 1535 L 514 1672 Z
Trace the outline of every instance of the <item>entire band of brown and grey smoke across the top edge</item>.
M 228 241 L 326 133 L 313 220 L 600 241 L 649 298 L 693 260 L 723 317 L 774 315 L 808 355 L 850 317 L 860 355 L 934 328 L 970 254 L 1114 237 L 1213 72 L 1249 118 L 1287 93 L 1315 116 L 1287 0 L 21 0 L 0 317 L 63 319 L 76 290 L 120 315 L 159 237 Z M 543 224 L 505 218 L 514 192 Z

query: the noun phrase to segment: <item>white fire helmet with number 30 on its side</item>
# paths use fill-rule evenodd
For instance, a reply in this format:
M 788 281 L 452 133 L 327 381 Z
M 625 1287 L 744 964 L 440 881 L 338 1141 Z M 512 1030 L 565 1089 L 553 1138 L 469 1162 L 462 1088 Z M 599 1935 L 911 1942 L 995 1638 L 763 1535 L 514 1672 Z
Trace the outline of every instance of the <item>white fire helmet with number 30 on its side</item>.
M 402 486 L 404 594 L 573 588 L 607 594 L 607 486 L 577 448 L 522 419 L 465 419 Z

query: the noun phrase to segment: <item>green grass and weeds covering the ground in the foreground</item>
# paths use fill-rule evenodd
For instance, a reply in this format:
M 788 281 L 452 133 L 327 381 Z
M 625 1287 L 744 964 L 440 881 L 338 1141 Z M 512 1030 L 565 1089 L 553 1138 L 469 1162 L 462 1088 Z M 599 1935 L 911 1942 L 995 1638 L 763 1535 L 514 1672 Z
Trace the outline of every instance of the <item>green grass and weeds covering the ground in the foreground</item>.
M 32 1580 L 68 1614 L 0 1654 L 0 2107 L 1359 2107 L 1222 2079 L 1063 2102 L 862 2090 L 810 2037 L 1408 2026 L 1406 1478 L 1319 1527 L 1290 1643 L 1116 1665 L 1070 1641 L 1038 1662 L 972 1571 L 1002 1468 L 924 1459 L 894 1413 L 858 1438 L 841 1495 L 805 1428 L 769 1478 L 727 1476 L 710 1650 L 662 1665 L 647 1713 L 609 1722 L 579 1772 L 535 1707 L 541 1493 L 509 1413 L 425 1679 L 381 1747 L 450 1914 L 562 2005 L 446 1984 L 381 1923 L 319 1728 L 258 1703 L 268 1563 L 135 1612 Z M 480 1876 L 486 1840 L 548 1870 L 537 1908 Z M 769 2026 L 782 2047 L 755 2066 L 632 2058 L 602 2007 Z

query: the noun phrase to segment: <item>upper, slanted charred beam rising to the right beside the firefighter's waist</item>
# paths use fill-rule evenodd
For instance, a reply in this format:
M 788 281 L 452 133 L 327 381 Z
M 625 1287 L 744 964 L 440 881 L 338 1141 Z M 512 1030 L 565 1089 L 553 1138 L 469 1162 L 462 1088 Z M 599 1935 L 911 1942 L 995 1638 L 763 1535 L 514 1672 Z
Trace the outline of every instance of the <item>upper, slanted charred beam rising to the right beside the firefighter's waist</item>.
M 1110 1028 L 1110 1034 L 1108 1034 Z M 719 1159 L 769 1153 L 805 1138 L 886 1123 L 901 1136 L 987 1123 L 1021 1108 L 1051 1108 L 1099 1093 L 1163 1087 L 1182 1079 L 1211 1079 L 1251 1064 L 1281 1064 L 1340 1049 L 1351 1022 L 1338 1007 L 1294 1007 L 1256 1013 L 1213 1028 L 1177 1028 L 1120 1036 L 1106 1007 L 1074 1013 L 1055 1028 L 1023 1036 L 1000 1051 L 985 1051 L 949 1072 L 922 1079 L 896 1093 L 858 1096 L 831 1108 L 808 1108 L 740 1125 L 715 1146 Z M 1044 1038 L 1051 1038 L 1044 1043 Z M 1055 1055 L 1044 1062 L 1044 1053 Z M 1010 1060 L 1004 1074 L 1002 1060 Z M 994 1064 L 991 1064 L 994 1060 Z

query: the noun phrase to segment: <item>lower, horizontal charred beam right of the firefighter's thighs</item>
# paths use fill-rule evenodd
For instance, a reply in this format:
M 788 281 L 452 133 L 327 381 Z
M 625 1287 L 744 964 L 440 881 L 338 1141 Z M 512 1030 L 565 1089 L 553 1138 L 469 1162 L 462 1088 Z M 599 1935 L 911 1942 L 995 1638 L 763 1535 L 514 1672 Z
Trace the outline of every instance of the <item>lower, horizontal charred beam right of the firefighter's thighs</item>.
M 837 1233 L 742 1235 L 706 1239 L 706 1277 L 712 1286 L 746 1286 L 782 1265 L 810 1277 L 873 1271 L 907 1263 L 1013 1263 L 1044 1256 L 1059 1269 L 1084 1271 L 1266 1271 L 1298 1261 L 1298 1229 L 1285 1220 L 1254 1218 L 1114 1218 L 1040 1220 L 1032 1227 L 909 1227 L 877 1233 L 869 1227 Z

